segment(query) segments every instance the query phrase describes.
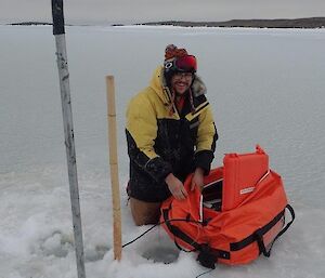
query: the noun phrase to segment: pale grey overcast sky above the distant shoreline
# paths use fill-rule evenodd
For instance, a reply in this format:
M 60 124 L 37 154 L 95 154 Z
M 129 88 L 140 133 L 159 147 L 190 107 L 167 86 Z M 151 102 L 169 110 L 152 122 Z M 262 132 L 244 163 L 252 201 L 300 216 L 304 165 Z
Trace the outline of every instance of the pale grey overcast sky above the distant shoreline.
M 66 23 L 325 16 L 325 0 L 64 0 Z M 0 23 L 51 21 L 51 0 L 0 0 Z

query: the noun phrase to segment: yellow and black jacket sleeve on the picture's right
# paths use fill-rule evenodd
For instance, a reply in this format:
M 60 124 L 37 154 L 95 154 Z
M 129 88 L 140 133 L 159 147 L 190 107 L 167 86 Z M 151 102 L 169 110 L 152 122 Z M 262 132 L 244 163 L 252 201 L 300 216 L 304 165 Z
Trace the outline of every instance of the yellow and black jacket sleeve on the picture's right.
M 210 105 L 208 105 L 199 115 L 196 151 L 194 155 L 195 167 L 204 169 L 206 175 L 209 174 L 211 162 L 214 158 L 213 153 L 217 140 L 218 133 Z

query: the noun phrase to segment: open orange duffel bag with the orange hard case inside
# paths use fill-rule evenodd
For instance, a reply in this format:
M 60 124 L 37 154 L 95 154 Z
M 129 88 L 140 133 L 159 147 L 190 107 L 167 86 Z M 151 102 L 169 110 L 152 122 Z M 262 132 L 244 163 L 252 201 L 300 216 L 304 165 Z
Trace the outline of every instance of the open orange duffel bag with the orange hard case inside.
M 190 175 L 184 183 L 188 197 L 170 197 L 161 206 L 161 225 L 176 244 L 197 251 L 198 261 L 211 268 L 216 262 L 238 265 L 261 253 L 270 256 L 274 241 L 295 220 L 282 178 L 269 169 L 263 149 L 225 155 L 223 164 L 205 177 L 202 193 L 190 190 Z

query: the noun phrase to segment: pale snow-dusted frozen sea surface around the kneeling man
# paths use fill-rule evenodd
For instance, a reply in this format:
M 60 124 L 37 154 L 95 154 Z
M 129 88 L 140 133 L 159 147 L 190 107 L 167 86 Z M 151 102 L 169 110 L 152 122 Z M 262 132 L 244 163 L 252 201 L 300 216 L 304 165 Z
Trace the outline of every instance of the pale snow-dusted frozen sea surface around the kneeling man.
M 77 277 L 64 134 L 49 26 L 0 26 L 0 277 Z M 123 242 L 132 223 L 125 186 L 125 110 L 174 43 L 198 57 L 226 153 L 260 144 L 297 219 L 270 259 L 218 265 L 202 277 L 325 277 L 325 29 L 67 27 L 67 55 L 86 272 L 89 278 L 195 278 L 206 268 L 155 228 L 113 260 L 105 76 L 114 75 Z M 169 264 L 164 262 L 171 261 Z

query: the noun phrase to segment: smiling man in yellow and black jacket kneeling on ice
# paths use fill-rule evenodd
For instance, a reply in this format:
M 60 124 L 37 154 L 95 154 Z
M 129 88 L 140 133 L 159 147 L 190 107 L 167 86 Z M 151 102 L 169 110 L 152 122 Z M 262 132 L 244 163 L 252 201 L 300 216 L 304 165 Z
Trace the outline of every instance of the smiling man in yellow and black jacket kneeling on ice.
M 195 56 L 168 45 L 164 66 L 128 106 L 128 194 L 136 225 L 156 224 L 160 203 L 171 195 L 185 199 L 190 173 L 192 190 L 209 174 L 218 134 L 196 70 Z

